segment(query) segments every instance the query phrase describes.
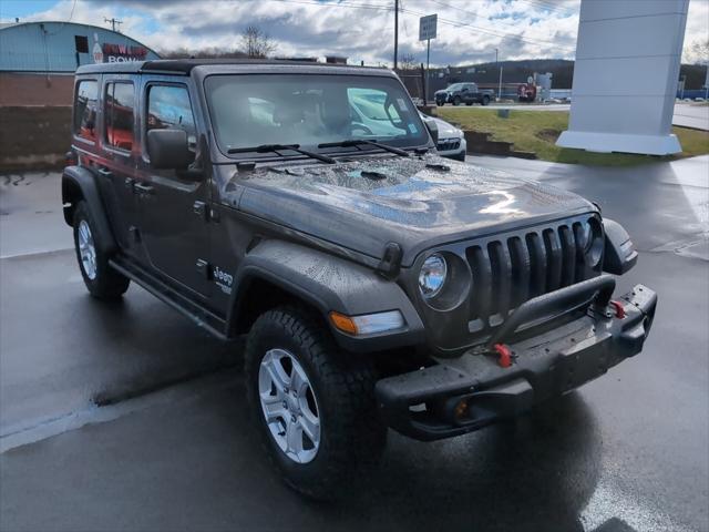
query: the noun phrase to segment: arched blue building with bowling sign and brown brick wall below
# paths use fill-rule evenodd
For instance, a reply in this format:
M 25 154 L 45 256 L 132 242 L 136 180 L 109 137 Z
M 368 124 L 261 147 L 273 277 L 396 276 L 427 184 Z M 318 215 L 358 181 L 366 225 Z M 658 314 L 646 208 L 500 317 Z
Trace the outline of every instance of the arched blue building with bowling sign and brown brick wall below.
M 63 164 L 78 66 L 153 59 L 150 48 L 105 28 L 0 24 L 0 172 Z

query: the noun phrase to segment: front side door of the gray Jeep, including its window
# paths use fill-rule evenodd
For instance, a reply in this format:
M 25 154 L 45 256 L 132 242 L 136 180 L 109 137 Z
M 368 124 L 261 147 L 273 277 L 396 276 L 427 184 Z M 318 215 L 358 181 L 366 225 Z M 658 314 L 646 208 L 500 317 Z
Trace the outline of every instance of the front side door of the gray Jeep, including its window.
M 150 269 L 178 288 L 209 295 L 209 183 L 195 182 L 175 170 L 155 170 L 146 153 L 147 132 L 182 129 L 196 152 L 195 114 L 187 85 L 148 82 L 144 88 L 142 172 L 135 183 L 141 242 Z

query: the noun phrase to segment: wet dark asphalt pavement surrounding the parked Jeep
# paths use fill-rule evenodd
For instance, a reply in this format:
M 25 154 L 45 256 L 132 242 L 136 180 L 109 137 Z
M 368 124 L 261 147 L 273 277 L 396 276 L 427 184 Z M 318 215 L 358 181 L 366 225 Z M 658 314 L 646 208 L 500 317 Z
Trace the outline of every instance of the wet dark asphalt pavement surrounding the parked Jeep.
M 56 174 L 0 177 L 0 530 L 709 530 L 709 157 L 628 170 L 474 157 L 580 192 L 659 294 L 646 348 L 524 418 L 420 443 L 339 504 L 281 485 L 239 345 L 144 290 L 83 287 Z M 97 406 L 102 405 L 102 406 Z

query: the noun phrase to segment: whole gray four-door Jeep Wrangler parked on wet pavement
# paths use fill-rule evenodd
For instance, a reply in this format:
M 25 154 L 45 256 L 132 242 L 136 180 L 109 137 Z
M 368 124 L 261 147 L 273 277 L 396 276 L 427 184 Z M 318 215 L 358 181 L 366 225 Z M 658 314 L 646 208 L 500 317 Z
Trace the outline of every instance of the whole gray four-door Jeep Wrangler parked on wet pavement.
M 76 72 L 64 217 L 89 291 L 135 282 L 247 335 L 285 480 L 349 488 L 387 428 L 463 434 L 638 354 L 656 295 L 594 204 L 441 158 L 382 69 L 147 61 Z M 613 275 L 609 275 L 613 274 Z

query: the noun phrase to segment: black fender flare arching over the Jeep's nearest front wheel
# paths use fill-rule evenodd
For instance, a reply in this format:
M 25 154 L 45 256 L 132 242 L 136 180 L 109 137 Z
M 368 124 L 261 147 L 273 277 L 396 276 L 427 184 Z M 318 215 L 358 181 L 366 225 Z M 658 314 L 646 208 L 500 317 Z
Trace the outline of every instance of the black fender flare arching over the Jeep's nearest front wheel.
M 425 341 L 421 318 L 397 283 L 366 266 L 285 241 L 261 242 L 239 264 L 227 330 L 233 330 L 248 305 L 245 295 L 254 279 L 273 283 L 316 308 L 346 350 L 379 351 Z M 328 317 L 332 310 L 347 316 L 400 310 L 405 326 L 395 331 L 353 337 L 332 327 Z

